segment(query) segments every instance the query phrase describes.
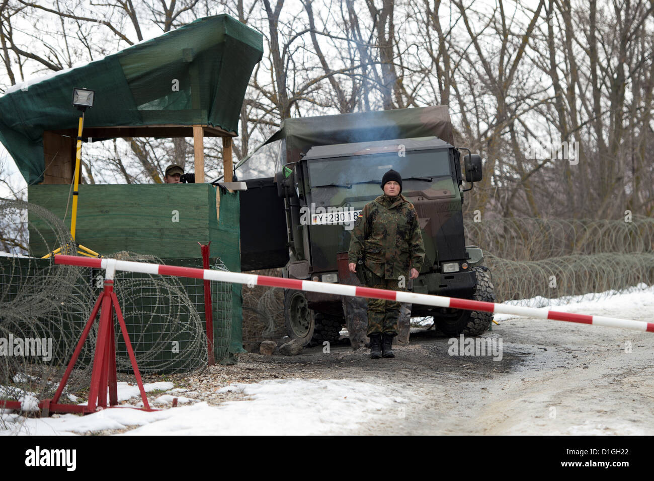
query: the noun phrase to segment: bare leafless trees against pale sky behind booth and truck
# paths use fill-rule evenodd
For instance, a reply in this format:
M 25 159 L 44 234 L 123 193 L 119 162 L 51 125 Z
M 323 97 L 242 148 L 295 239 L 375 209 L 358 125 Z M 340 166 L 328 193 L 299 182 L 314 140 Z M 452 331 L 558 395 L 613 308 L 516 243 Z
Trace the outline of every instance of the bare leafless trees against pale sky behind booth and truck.
M 486 161 L 467 209 L 498 217 L 654 213 L 651 1 L 297 5 L 0 0 L 0 91 L 228 12 L 262 32 L 266 52 L 241 109 L 237 158 L 290 116 L 444 104 L 457 143 Z M 578 145 L 578 162 L 528 155 L 532 143 Z M 192 155 L 188 139 L 118 139 L 85 149 L 88 183 L 160 182 L 168 164 Z M 205 152 L 210 175 L 222 173 L 222 143 L 206 139 Z M 269 172 L 263 163 L 252 171 Z

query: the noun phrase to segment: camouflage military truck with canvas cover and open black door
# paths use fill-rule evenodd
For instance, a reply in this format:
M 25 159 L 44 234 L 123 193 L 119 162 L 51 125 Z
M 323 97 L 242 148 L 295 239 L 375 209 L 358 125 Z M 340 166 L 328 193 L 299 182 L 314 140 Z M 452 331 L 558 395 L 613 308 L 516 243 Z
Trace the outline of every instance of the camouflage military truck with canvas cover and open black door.
M 454 147 L 447 107 L 286 119 L 274 140 L 281 141 L 275 177 L 250 179 L 241 192 L 243 270 L 281 267 L 284 277 L 357 283 L 347 270 L 354 219 L 383 193 L 381 177 L 392 168 L 418 213 L 426 251 L 407 289 L 494 302 L 483 253 L 464 239 L 464 192 L 481 181 L 481 158 Z M 365 323 L 348 323 L 351 302 L 286 290 L 288 335 L 305 345 L 336 340 L 347 324 L 353 340 Z M 417 304 L 411 316 L 433 316 L 451 336 L 482 334 L 492 321 L 491 313 Z

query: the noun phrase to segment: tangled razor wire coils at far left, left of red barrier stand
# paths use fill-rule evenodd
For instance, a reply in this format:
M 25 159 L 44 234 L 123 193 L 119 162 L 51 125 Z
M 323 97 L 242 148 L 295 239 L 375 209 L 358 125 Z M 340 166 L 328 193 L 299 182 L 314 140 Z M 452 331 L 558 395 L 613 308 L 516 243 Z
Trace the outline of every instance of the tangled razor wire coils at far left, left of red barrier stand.
M 39 217 L 48 232 L 35 228 L 30 217 Z M 29 224 L 31 235 L 41 239 L 46 251 L 57 247 L 62 253 L 75 251 L 67 227 L 39 205 L 0 199 L 0 219 L 9 232 L 27 230 Z M 0 399 L 52 397 L 54 380 L 61 378 L 94 304 L 85 270 L 39 258 L 46 253 L 0 257 L 0 338 L 5 345 L 0 355 Z M 82 347 L 69 392 L 88 386 L 93 347 Z

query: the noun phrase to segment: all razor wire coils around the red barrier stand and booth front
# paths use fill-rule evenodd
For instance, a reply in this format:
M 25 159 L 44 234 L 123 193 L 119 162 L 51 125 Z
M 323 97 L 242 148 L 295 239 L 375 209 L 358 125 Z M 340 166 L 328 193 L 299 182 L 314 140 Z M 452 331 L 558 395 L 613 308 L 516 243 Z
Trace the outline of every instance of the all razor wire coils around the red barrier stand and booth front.
M 35 217 L 39 217 L 40 226 L 46 227 L 35 228 Z M 61 247 L 61 253 L 77 250 L 68 228 L 39 205 L 0 199 L 0 219 L 10 232 L 29 229 L 30 236 L 46 251 L 56 247 Z M 103 270 L 54 264 L 52 258 L 39 258 L 46 252 L 27 249 L 27 255 L 14 251 L 0 256 L 0 399 L 12 401 L 52 397 L 103 288 Z M 159 258 L 124 251 L 111 257 L 163 264 Z M 212 268 L 226 270 L 220 260 Z M 226 351 L 229 332 L 225 330 L 230 329 L 232 316 L 231 285 L 218 283 L 213 289 L 220 303 L 215 344 Z M 114 291 L 131 332 L 139 370 L 144 374 L 190 372 L 207 365 L 204 323 L 187 290 L 196 294 L 197 304 L 198 296 L 203 296 L 202 281 L 182 283 L 177 277 L 116 273 Z M 131 372 L 122 334 L 119 329 L 114 333 L 117 368 L 119 372 Z M 79 393 L 88 387 L 96 339 L 97 322 L 82 346 L 66 393 Z

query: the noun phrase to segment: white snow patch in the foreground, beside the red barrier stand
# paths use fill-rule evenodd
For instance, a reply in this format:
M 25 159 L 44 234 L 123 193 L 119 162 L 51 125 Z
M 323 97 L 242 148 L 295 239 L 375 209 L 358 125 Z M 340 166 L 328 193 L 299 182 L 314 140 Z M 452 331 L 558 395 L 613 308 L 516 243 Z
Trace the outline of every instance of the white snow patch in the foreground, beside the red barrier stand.
M 125 399 L 133 386 L 121 384 L 118 397 Z M 152 385 L 162 384 L 170 383 Z M 148 385 L 148 390 L 152 390 L 152 385 Z M 236 383 L 223 389 L 239 391 L 249 399 L 224 402 L 220 406 L 198 402 L 155 412 L 128 409 L 123 405 L 88 416 L 65 414 L 43 419 L 3 414 L 2 420 L 9 429 L 0 430 L 0 434 L 71 435 L 128 426 L 139 426 L 128 431 L 128 435 L 341 434 L 360 427 L 380 411 L 388 412 L 409 402 L 405 393 L 390 384 L 347 379 L 266 380 Z M 164 397 L 171 401 L 173 398 Z

